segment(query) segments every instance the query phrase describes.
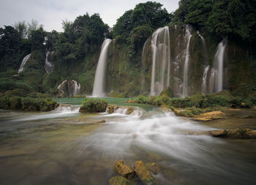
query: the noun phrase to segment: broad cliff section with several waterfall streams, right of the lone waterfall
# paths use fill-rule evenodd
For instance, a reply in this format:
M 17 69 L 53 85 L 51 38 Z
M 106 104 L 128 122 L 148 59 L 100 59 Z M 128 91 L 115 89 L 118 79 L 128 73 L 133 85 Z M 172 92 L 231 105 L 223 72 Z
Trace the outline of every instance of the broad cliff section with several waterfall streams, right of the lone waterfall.
M 159 95 L 170 87 L 175 97 L 184 98 L 225 89 L 227 41 L 219 43 L 215 55 L 208 54 L 208 50 L 215 51 L 207 46 L 206 39 L 190 25 L 157 29 L 143 46 L 140 93 Z

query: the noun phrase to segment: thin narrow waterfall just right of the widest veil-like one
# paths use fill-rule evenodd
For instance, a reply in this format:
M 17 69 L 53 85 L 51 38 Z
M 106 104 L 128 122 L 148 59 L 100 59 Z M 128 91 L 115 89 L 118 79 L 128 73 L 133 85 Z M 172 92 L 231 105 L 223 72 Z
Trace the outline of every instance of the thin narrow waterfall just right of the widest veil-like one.
M 190 43 L 190 39 L 192 37 L 192 34 L 190 34 L 190 31 L 189 31 L 189 25 L 186 25 L 186 37 L 187 37 L 187 47 L 186 47 L 186 51 L 185 51 L 186 58 L 185 58 L 185 63 L 184 63 L 182 97 L 187 96 L 187 84 L 188 84 L 187 74 L 188 74 L 188 69 L 189 69 L 189 43 Z

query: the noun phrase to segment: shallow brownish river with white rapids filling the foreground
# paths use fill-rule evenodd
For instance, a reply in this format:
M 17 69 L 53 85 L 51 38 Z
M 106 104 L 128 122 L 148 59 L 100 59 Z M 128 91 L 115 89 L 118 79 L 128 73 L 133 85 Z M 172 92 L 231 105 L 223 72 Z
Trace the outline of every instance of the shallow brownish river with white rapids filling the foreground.
M 115 103 L 126 105 L 122 99 Z M 82 114 L 78 108 L 1 110 L 0 184 L 108 184 L 117 160 L 159 163 L 164 170 L 154 176 L 157 184 L 255 183 L 254 140 L 188 134 L 243 124 L 255 129 L 255 118 L 239 119 L 255 111 L 239 111 L 238 117 L 230 111 L 230 118 L 202 124 L 153 106 L 132 115 Z

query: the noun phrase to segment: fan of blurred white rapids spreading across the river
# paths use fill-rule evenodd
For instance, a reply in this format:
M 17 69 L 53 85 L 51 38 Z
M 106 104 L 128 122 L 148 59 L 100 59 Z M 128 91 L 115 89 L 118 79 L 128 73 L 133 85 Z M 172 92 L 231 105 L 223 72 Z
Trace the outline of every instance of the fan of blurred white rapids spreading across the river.
M 129 156 L 132 147 L 157 151 L 170 157 L 192 162 L 200 158 L 195 154 L 198 146 L 195 141 L 214 141 L 206 135 L 186 135 L 189 130 L 211 130 L 180 119 L 163 111 L 150 111 L 143 117 L 121 117 L 105 122 L 94 135 L 86 138 L 86 148 L 96 149 L 101 157 L 120 158 Z M 85 149 L 86 151 L 86 149 Z

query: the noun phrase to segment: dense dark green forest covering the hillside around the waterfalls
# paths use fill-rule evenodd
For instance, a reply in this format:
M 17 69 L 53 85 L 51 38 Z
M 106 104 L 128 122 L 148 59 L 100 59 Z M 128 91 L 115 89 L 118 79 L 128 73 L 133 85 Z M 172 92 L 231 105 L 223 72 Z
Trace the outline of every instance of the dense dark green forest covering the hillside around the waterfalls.
M 206 38 L 207 50 L 228 39 L 230 83 L 226 89 L 240 95 L 256 90 L 256 7 L 251 0 L 181 0 L 175 12 L 148 1 L 124 12 L 110 28 L 99 14 L 80 15 L 62 22 L 63 32 L 45 31 L 42 25 L 19 22 L 0 28 L 0 92 L 5 95 L 57 96 L 65 79 L 81 84 L 82 94 L 91 94 L 102 42 L 113 39 L 109 49 L 107 89 L 110 95 L 140 94 L 142 51 L 146 40 L 164 26 L 192 25 Z M 53 71 L 45 71 L 46 52 L 51 52 Z M 18 73 L 26 55 L 31 57 Z M 148 67 L 150 68 L 150 66 Z

